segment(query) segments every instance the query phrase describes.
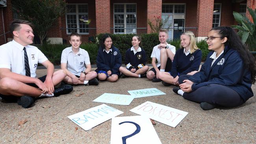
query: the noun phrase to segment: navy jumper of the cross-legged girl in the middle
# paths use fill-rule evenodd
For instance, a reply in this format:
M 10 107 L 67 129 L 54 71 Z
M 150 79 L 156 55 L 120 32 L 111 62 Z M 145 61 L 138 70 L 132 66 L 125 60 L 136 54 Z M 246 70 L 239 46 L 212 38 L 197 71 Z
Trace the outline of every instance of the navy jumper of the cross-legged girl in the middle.
M 128 70 L 131 70 L 132 68 L 135 68 L 136 70 L 138 70 L 139 68 L 142 68 L 143 66 L 145 66 L 146 62 L 147 62 L 146 52 L 141 47 L 139 47 L 137 51 L 134 49 L 133 46 L 128 50 L 126 50 L 125 65 Z

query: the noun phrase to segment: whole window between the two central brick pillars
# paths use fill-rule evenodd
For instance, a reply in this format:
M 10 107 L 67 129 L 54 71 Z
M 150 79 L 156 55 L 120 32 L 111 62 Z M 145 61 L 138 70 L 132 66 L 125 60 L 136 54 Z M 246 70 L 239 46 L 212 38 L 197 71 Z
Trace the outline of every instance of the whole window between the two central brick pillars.
M 114 4 L 114 33 L 136 33 L 136 4 Z

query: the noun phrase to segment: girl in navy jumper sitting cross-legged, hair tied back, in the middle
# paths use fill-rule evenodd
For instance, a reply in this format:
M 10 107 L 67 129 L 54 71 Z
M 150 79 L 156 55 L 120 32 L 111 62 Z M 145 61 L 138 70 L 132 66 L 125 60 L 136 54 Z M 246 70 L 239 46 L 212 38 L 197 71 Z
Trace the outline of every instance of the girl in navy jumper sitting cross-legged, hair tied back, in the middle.
M 137 78 L 146 78 L 148 66 L 146 65 L 147 56 L 145 50 L 139 47 L 141 37 L 135 35 L 132 37 L 132 48 L 126 50 L 125 65 L 126 68 L 120 66 L 119 71 L 122 72 L 122 78 L 133 76 Z

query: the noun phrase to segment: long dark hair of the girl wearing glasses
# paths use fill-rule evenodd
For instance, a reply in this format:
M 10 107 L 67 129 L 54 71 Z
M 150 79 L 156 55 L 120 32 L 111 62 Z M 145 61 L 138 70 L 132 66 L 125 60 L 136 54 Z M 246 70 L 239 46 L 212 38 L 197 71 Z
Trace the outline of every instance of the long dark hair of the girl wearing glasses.
M 241 42 L 241 39 L 236 34 L 236 32 L 230 28 L 230 27 L 216 27 L 211 30 L 218 31 L 219 35 L 221 36 L 221 39 L 226 37 L 228 40 L 224 43 L 225 46 L 229 46 L 230 48 L 233 48 L 237 50 L 241 58 L 243 59 L 243 64 L 245 68 L 248 68 L 250 71 L 250 76 L 252 79 L 252 83 L 255 83 L 255 76 L 256 76 L 256 65 L 255 65 L 255 59 L 253 55 L 249 52 L 248 48 L 243 45 Z

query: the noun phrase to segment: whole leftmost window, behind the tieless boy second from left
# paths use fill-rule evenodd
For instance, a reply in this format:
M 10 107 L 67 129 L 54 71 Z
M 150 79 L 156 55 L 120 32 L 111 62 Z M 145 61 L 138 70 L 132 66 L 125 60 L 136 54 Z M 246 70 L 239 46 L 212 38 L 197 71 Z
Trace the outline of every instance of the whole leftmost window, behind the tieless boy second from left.
M 66 25 L 67 34 L 89 34 L 87 4 L 67 4 Z

